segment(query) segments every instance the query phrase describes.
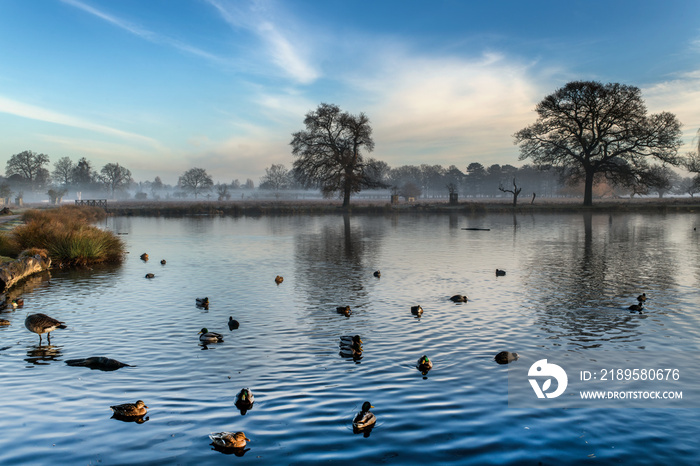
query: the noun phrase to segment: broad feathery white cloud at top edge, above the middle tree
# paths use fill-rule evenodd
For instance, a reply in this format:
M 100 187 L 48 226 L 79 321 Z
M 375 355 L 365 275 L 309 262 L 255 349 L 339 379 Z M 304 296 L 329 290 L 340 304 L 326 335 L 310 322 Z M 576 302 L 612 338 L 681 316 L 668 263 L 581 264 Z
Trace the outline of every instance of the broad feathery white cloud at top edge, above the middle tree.
M 305 56 L 305 47 L 299 40 L 299 34 L 295 34 L 292 39 L 292 34 L 272 18 L 273 8 L 267 8 L 261 2 L 250 4 L 244 9 L 220 0 L 206 1 L 231 27 L 254 33 L 265 45 L 270 61 L 296 82 L 310 84 L 319 78 L 319 71 Z

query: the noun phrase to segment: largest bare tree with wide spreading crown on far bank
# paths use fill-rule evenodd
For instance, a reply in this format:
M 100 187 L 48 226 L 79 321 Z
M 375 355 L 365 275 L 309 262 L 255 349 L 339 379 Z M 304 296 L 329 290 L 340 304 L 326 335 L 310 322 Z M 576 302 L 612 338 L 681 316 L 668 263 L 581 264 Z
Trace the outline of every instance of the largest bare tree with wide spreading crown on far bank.
M 593 204 L 596 174 L 629 182 L 649 167 L 649 159 L 679 165 L 681 124 L 672 113 L 647 116 L 634 86 L 574 81 L 544 98 L 537 121 L 518 131 L 520 160 L 562 168 L 584 180 L 584 205 Z

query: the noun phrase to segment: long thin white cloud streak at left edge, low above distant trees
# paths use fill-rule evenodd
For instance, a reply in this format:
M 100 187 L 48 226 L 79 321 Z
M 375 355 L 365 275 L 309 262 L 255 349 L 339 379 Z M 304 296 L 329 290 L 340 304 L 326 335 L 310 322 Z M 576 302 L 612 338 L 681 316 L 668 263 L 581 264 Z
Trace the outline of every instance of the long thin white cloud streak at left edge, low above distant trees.
M 109 126 L 91 123 L 81 118 L 65 115 L 63 113 L 37 107 L 35 105 L 18 102 L 16 100 L 9 99 L 1 95 L 0 112 L 8 113 L 10 115 L 15 115 L 23 118 L 29 118 L 31 120 L 45 121 L 48 123 L 54 123 L 63 126 L 85 129 L 88 131 L 106 134 L 109 136 L 116 136 L 120 139 L 128 140 L 139 144 L 145 144 L 158 150 L 164 149 L 162 144 L 160 144 L 155 139 L 142 136 L 140 134 L 130 133 L 128 131 L 122 131 L 119 129 L 111 128 Z

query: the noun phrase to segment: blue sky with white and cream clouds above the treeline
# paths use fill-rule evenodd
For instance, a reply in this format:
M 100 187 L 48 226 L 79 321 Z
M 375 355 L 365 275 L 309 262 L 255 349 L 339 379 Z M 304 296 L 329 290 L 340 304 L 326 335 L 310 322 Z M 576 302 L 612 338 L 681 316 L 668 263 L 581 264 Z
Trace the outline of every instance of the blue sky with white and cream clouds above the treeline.
M 2 0 L 0 171 L 33 150 L 257 184 L 321 102 L 366 113 L 390 166 L 517 166 L 513 133 L 572 80 L 640 87 L 688 151 L 699 18 L 696 0 Z

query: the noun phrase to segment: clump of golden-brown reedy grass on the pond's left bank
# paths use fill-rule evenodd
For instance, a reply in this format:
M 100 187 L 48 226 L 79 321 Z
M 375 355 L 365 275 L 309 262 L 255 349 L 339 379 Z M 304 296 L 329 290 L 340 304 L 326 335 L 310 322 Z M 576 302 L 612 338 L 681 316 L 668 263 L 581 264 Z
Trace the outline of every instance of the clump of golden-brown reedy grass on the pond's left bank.
M 22 215 L 25 224 L 0 234 L 0 255 L 17 257 L 25 250 L 43 249 L 61 266 L 119 262 L 124 255 L 121 239 L 91 225 L 105 215 L 96 207 L 28 210 Z

